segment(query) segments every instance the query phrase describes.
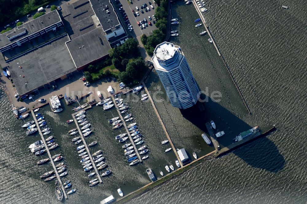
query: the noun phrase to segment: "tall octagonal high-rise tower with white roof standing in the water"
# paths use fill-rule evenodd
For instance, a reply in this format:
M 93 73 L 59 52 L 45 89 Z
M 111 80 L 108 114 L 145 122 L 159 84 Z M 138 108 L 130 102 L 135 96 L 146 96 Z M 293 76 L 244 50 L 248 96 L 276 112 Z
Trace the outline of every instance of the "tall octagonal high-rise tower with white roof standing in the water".
M 181 48 L 161 43 L 154 50 L 152 61 L 173 107 L 186 109 L 195 105 L 199 89 Z

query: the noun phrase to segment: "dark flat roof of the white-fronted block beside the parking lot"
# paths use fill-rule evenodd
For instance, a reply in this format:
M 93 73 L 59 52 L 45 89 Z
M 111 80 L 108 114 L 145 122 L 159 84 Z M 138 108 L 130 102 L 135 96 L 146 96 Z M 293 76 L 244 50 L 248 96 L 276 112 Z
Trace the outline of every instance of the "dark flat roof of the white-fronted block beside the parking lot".
M 90 0 L 93 5 L 93 10 L 98 17 L 100 24 L 103 28 L 103 31 L 106 31 L 110 28 L 119 25 L 119 20 L 116 16 L 113 6 L 111 5 L 109 0 Z M 106 9 L 108 6 L 108 9 Z M 107 13 L 107 11 L 109 13 Z

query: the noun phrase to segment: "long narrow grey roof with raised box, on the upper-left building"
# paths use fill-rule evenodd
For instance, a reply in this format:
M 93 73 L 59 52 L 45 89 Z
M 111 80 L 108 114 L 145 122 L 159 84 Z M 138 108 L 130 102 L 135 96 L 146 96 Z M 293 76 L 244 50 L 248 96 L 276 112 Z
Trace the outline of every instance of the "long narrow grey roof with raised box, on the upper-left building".
M 52 12 L 46 13 L 45 15 L 38 17 L 37 19 L 34 19 L 32 21 L 29 21 L 21 26 L 19 26 L 18 28 L 15 27 L 12 30 L 5 32 L 3 34 L 0 35 L 0 47 L 4 47 L 10 43 L 13 43 L 21 38 L 24 38 L 27 35 L 30 35 L 32 33 L 35 33 L 37 31 L 42 30 L 45 27 L 48 27 L 52 24 L 55 24 L 57 22 L 61 21 L 59 13 L 57 12 L 57 10 L 54 10 Z M 16 35 L 22 31 L 26 31 L 25 34 L 18 36 L 12 40 L 9 40 L 8 37 L 6 35 L 12 36 L 12 35 Z

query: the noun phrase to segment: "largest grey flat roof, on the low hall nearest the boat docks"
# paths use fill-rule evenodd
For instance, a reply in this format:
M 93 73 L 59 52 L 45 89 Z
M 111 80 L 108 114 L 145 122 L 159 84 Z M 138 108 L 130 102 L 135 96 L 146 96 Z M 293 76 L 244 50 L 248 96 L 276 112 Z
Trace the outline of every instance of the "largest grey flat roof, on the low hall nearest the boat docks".
M 19 95 L 76 70 L 65 45 L 68 40 L 67 35 L 62 36 L 7 63 Z

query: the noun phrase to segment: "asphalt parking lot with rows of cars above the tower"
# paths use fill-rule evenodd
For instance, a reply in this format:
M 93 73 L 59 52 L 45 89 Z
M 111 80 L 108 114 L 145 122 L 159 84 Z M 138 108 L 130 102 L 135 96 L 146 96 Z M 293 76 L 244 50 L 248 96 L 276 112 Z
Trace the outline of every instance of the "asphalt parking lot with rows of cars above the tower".
M 124 9 L 124 12 L 120 12 L 119 10 L 119 3 L 118 0 L 115 3 L 115 0 L 112 0 L 112 2 L 115 5 L 115 10 L 118 13 L 119 19 L 122 21 L 122 24 L 124 28 L 126 29 L 126 32 L 130 34 L 133 37 L 140 36 L 142 34 L 146 34 L 147 36 L 152 33 L 153 30 L 157 29 L 156 26 L 153 23 L 153 15 L 155 14 L 155 8 L 157 7 L 157 4 L 153 3 L 153 0 L 131 0 L 132 3 L 128 5 L 127 0 L 119 0 L 120 4 L 122 4 L 122 9 Z M 152 7 L 150 6 L 149 2 L 152 4 Z M 147 7 L 150 9 L 149 11 L 147 9 L 141 9 L 141 6 L 143 4 L 147 5 Z M 139 10 L 136 9 L 136 6 L 138 7 Z M 146 6 L 145 6 L 146 7 Z M 132 12 L 134 10 L 135 14 Z M 143 13 L 142 13 L 142 11 Z M 137 13 L 139 15 L 137 15 Z M 128 19 L 124 19 L 123 14 L 126 14 Z M 149 19 L 149 16 L 152 20 Z M 142 21 L 146 18 L 147 20 L 147 26 L 145 28 L 141 29 L 140 26 L 138 26 L 137 21 Z M 129 23 L 132 25 L 133 30 L 130 32 L 128 29 L 127 24 L 125 23 L 126 20 L 129 20 Z M 149 22 L 151 25 L 149 25 Z

